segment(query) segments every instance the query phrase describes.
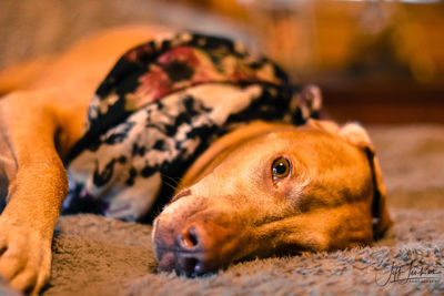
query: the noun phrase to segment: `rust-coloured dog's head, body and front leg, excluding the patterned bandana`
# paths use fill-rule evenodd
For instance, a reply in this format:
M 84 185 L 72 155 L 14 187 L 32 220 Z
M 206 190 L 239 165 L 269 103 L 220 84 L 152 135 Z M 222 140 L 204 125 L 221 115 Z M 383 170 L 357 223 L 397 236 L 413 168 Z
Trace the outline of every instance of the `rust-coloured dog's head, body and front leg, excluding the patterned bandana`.
M 51 64 L 7 71 L 0 90 L 0 274 L 39 292 L 67 194 L 63 161 L 83 135 L 90 98 L 129 48 L 161 30 L 95 37 Z M 162 33 L 168 33 L 163 30 Z M 27 74 L 27 75 L 24 75 Z M 372 218 L 376 218 L 374 222 Z M 251 122 L 215 141 L 188 170 L 154 223 L 160 268 L 211 272 L 248 256 L 370 243 L 390 225 L 373 147 L 357 125 Z

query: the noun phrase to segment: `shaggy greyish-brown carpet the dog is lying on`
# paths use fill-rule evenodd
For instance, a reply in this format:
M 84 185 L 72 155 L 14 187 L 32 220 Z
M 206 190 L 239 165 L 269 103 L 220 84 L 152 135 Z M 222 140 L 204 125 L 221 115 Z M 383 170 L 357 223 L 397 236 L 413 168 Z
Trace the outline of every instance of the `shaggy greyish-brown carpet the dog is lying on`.
M 202 278 L 157 272 L 151 226 L 59 218 L 43 295 L 442 295 L 444 126 L 370 129 L 393 227 L 373 246 L 255 259 Z M 0 287 L 0 295 L 10 294 Z

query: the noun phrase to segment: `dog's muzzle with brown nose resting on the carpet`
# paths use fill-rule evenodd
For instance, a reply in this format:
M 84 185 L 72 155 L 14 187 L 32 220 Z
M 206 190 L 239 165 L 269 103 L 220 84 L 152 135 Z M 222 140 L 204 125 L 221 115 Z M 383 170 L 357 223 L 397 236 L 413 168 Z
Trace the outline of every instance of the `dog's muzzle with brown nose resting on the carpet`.
M 233 225 L 224 221 L 226 215 L 208 211 L 203 198 L 190 198 L 198 201 L 175 198 L 170 207 L 179 211 L 164 211 L 154 222 L 152 239 L 161 272 L 199 276 L 216 272 L 233 259 L 239 229 L 228 227 Z

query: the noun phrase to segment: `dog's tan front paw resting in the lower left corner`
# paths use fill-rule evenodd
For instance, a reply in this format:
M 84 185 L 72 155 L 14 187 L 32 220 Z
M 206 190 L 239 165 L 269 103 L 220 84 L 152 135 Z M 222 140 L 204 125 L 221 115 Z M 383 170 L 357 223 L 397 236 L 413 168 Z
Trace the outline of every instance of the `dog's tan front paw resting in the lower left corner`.
M 37 295 L 48 283 L 50 268 L 51 239 L 0 216 L 0 276 L 12 288 Z

